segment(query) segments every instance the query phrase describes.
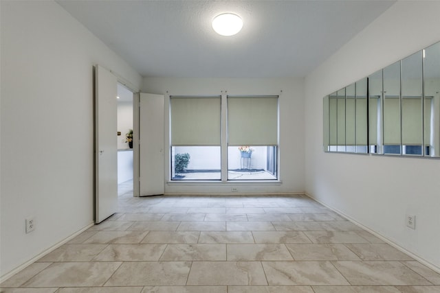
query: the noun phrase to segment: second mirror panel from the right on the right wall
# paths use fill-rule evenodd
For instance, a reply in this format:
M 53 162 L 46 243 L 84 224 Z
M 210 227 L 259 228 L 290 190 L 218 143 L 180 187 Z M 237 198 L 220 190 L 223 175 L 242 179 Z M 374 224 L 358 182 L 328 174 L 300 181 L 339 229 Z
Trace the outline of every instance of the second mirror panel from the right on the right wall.
M 401 60 L 401 145 L 402 154 L 423 154 L 422 53 Z

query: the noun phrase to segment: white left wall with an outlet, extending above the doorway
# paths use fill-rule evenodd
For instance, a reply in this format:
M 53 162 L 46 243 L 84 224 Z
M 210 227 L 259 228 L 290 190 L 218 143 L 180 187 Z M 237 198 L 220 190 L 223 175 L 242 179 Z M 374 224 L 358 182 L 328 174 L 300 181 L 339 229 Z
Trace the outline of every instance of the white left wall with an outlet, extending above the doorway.
M 4 277 L 93 222 L 92 65 L 142 78 L 57 3 L 0 5 Z

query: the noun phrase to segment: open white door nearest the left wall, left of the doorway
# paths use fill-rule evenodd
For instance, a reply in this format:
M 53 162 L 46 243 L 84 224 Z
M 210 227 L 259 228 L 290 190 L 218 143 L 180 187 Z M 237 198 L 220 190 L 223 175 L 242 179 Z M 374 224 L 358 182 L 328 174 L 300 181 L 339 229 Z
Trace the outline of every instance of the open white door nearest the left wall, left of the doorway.
M 95 222 L 118 209 L 118 80 L 106 69 L 95 67 Z

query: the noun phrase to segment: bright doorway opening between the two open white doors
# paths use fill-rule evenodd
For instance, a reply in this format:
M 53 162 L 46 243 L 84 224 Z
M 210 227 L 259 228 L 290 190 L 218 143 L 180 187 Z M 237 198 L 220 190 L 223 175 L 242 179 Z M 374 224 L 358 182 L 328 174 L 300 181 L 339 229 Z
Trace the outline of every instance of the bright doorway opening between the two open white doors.
M 118 83 L 118 197 L 133 196 L 133 92 Z M 130 137 L 131 133 L 131 137 Z M 131 143 L 130 143 L 131 142 Z

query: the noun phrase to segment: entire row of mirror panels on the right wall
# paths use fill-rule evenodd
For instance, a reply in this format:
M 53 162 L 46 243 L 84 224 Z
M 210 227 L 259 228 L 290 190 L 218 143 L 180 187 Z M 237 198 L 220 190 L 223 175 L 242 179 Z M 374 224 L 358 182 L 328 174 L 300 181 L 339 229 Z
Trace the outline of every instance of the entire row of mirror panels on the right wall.
M 324 97 L 325 152 L 440 157 L 440 42 Z

